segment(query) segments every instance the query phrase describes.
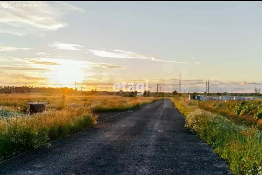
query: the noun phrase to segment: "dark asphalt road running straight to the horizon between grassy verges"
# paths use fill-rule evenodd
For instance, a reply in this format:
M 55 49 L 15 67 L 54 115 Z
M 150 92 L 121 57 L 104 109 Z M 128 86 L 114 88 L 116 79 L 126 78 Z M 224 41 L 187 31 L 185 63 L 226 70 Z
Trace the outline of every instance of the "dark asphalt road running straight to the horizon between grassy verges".
M 228 174 L 184 122 L 170 99 L 159 100 L 4 162 L 0 174 Z

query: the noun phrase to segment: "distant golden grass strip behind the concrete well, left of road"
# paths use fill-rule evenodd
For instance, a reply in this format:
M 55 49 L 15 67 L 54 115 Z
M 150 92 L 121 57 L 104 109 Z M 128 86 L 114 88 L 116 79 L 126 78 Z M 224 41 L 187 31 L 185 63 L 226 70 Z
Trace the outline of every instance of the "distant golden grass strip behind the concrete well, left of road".
M 62 95 L 43 96 L 43 95 L 20 95 L 20 94 L 0 94 L 0 106 L 9 106 L 14 110 L 20 107 L 21 111 L 27 112 L 27 102 L 48 102 L 49 109 L 61 110 L 66 107 L 86 106 L 92 108 L 97 112 L 103 111 L 121 111 L 128 110 L 139 106 L 138 104 L 150 103 L 157 100 L 156 97 L 120 97 L 113 95 L 91 95 L 91 96 L 77 96 L 74 95 L 62 97 Z

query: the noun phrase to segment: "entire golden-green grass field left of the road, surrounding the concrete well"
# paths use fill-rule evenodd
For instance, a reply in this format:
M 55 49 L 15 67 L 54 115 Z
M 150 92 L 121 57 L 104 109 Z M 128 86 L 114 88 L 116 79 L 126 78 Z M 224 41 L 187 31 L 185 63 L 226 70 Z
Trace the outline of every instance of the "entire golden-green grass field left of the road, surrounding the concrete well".
M 26 102 L 48 102 L 47 111 L 28 116 Z M 97 112 L 124 111 L 157 98 L 120 96 L 0 95 L 0 160 L 91 127 Z M 18 111 L 20 107 L 21 111 Z

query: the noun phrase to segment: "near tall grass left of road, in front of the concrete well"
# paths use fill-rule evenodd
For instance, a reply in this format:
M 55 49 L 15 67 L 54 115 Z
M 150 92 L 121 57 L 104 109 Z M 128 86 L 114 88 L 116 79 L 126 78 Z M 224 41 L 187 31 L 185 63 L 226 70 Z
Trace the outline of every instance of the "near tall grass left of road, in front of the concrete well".
M 81 131 L 96 123 L 97 116 L 84 107 L 49 110 L 33 116 L 0 120 L 0 159 L 24 150 L 49 146 L 50 141 Z

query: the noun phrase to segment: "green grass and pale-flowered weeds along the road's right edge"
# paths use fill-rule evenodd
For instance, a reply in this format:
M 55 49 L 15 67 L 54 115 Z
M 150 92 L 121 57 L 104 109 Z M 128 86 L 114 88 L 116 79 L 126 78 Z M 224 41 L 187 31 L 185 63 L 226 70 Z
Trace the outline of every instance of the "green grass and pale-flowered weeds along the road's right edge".
M 200 139 L 211 145 L 229 163 L 233 174 L 262 174 L 262 132 L 259 129 L 254 125 L 238 125 L 214 111 L 203 110 L 199 101 L 198 104 L 189 103 L 185 98 L 179 98 L 173 99 L 173 102 L 185 115 L 185 126 L 197 132 Z M 231 105 L 228 106 L 230 109 Z M 235 107 L 236 104 L 231 109 Z M 260 111 L 255 115 L 259 118 Z

